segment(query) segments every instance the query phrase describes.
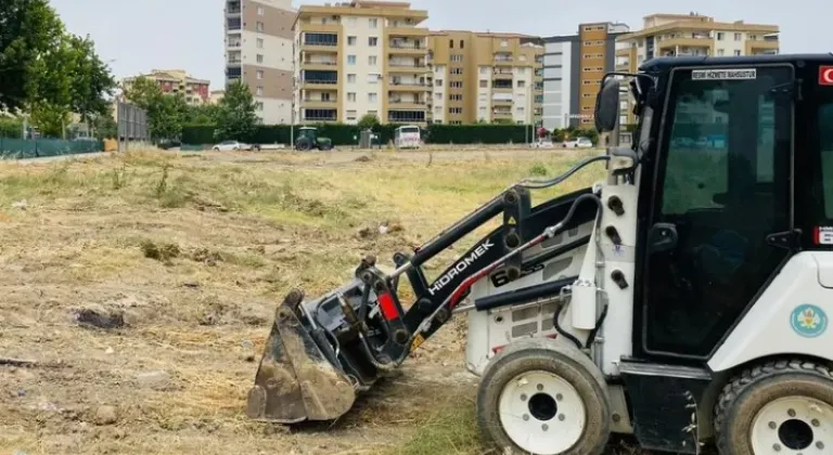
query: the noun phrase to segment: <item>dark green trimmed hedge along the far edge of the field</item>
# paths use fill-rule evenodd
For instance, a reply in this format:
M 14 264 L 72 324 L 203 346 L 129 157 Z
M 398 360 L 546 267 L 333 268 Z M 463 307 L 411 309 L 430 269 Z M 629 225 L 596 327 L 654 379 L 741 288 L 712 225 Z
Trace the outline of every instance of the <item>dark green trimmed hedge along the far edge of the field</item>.
M 361 129 L 355 125 L 324 123 L 315 125 L 318 134 L 330 138 L 334 145 L 357 144 Z M 379 125 L 373 132 L 380 135 L 382 143 L 394 140 L 398 125 Z M 298 129 L 295 127 L 295 136 Z M 422 138 L 432 144 L 507 144 L 524 143 L 533 139 L 534 128 L 523 125 L 439 125 L 433 123 L 423 129 Z M 255 134 L 246 142 L 254 144 L 290 144 L 289 125 L 258 126 Z M 215 127 L 205 125 L 187 125 L 182 129 L 183 144 L 213 144 L 238 138 L 215 138 Z

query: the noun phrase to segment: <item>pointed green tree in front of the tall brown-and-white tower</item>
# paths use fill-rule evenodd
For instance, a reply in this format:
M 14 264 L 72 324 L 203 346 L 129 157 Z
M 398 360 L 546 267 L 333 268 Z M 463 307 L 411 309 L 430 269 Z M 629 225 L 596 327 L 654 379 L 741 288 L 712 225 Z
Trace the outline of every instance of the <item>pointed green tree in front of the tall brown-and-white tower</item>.
M 217 108 L 216 140 L 248 141 L 257 130 L 257 104 L 248 86 L 232 82 Z

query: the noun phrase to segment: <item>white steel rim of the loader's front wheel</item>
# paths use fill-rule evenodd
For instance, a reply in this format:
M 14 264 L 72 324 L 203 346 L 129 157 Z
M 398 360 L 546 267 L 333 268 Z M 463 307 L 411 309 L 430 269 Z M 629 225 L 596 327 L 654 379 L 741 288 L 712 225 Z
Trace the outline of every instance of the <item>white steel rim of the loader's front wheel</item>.
M 578 391 L 550 372 L 528 372 L 507 382 L 498 402 L 500 425 L 518 447 L 555 455 L 575 445 L 587 413 Z

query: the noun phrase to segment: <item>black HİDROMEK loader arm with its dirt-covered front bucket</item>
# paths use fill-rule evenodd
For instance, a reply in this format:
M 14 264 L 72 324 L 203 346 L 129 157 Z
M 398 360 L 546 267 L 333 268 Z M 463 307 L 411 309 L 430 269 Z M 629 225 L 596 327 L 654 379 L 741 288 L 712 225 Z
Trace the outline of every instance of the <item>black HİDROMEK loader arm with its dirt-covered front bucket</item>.
M 353 282 L 315 300 L 293 290 L 279 307 L 264 355 L 249 391 L 247 414 L 256 419 L 297 422 L 334 419 L 349 410 L 356 392 L 370 388 L 386 372 L 435 334 L 454 307 L 480 280 L 514 282 L 544 262 L 579 248 L 589 236 L 558 248 L 541 248 L 556 234 L 593 221 L 600 199 L 591 188 L 573 192 L 531 207 L 530 190 L 561 183 L 585 166 L 607 161 L 629 151 L 611 150 L 588 158 L 564 174 L 526 180 L 464 217 L 412 253 L 394 256 L 397 269 L 385 274 L 368 257 Z M 633 159 L 636 161 L 636 159 Z M 633 164 L 636 166 L 636 162 Z M 474 244 L 433 281 L 423 265 L 495 217 L 502 224 Z M 408 277 L 414 300 L 403 304 L 399 278 Z M 561 288 L 571 280 L 562 280 Z M 467 304 L 485 310 L 528 301 L 541 292 L 558 294 L 552 283 L 501 294 Z M 530 297 L 531 296 L 531 297 Z

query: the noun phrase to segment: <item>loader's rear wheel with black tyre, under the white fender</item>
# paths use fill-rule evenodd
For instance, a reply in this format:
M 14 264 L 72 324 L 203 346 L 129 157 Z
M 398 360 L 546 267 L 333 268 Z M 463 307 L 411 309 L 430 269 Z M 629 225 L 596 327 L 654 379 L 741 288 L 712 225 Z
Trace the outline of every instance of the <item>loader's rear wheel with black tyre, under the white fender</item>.
M 720 455 L 833 451 L 833 376 L 815 362 L 782 360 L 744 370 L 715 406 Z

